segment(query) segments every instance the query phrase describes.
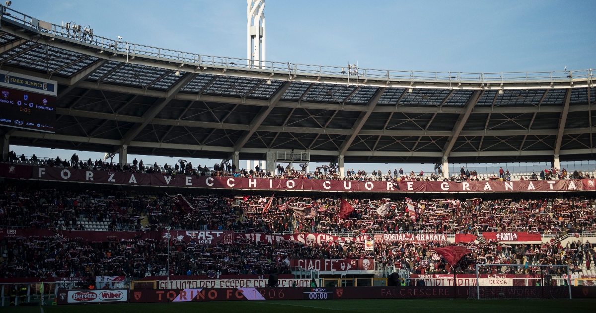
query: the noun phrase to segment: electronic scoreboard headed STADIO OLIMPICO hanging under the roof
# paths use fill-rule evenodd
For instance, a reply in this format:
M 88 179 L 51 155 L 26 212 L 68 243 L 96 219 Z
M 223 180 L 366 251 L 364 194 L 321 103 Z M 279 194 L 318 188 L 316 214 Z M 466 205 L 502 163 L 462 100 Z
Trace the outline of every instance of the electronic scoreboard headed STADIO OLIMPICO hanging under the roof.
M 0 126 L 54 132 L 58 84 L 0 71 Z

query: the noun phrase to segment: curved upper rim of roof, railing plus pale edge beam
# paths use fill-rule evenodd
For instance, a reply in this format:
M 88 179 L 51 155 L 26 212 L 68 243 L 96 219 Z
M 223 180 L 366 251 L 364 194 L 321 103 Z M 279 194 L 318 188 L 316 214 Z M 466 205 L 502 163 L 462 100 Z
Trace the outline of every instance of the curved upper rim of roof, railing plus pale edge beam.
M 423 72 L 378 69 L 348 69 L 289 62 L 262 61 L 254 64 L 244 58 L 216 57 L 147 45 L 133 44 L 93 35 L 81 26 L 48 23 L 0 5 L 2 27 L 23 37 L 28 33 L 48 45 L 64 47 L 105 60 L 125 61 L 145 66 L 185 72 L 239 76 L 295 82 L 335 83 L 396 88 L 436 89 L 535 89 L 594 87 L 592 69 L 560 72 Z M 69 27 L 66 27 L 66 26 Z M 41 38 L 39 38 L 41 37 Z

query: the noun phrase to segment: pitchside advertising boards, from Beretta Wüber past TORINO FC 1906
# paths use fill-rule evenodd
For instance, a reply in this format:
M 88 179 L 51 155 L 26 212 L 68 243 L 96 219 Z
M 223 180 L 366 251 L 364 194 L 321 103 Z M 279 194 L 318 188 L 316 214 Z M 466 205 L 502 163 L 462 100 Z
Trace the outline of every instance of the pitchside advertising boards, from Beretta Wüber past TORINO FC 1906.
M 560 290 L 555 290 L 560 289 Z M 431 299 L 468 298 L 470 287 L 308 287 L 308 288 L 213 288 L 167 290 L 112 290 L 105 300 L 99 293 L 110 290 L 58 290 L 58 304 L 94 302 L 200 302 L 246 300 L 331 300 L 331 299 Z M 473 291 L 476 289 L 474 288 Z M 517 287 L 510 296 L 544 298 L 551 295 L 569 295 L 569 287 Z M 596 287 L 571 287 L 573 298 L 596 297 Z M 92 293 L 95 294 L 92 295 Z M 515 295 L 513 295 L 515 294 Z

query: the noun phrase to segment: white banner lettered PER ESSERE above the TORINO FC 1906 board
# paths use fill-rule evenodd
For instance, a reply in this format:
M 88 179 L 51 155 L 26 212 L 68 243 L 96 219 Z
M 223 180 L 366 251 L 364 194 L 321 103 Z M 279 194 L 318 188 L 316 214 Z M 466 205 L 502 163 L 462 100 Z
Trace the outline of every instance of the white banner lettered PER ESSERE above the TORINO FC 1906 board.
M 160 280 L 157 289 L 267 287 L 268 279 Z M 308 287 L 311 279 L 280 278 L 276 287 Z

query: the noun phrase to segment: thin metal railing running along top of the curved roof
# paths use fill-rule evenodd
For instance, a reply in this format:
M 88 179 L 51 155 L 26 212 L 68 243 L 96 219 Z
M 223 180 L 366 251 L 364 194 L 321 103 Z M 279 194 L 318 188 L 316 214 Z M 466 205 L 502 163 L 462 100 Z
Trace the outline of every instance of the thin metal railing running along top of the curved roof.
M 286 76 L 335 77 L 353 80 L 387 80 L 387 81 L 424 81 L 459 83 L 501 84 L 509 82 L 572 82 L 593 80 L 592 69 L 553 72 L 428 72 L 415 70 L 381 70 L 359 69 L 347 66 L 322 66 L 276 61 L 255 61 L 246 58 L 218 57 L 191 52 L 151 47 L 120 40 L 95 36 L 91 29 L 76 24 L 57 25 L 40 21 L 37 18 L 20 13 L 0 5 L 2 19 L 19 24 L 26 29 L 43 35 L 63 38 L 67 41 L 91 45 L 105 52 L 120 54 L 127 59 L 134 57 L 151 58 L 153 60 L 170 61 L 182 66 L 215 67 L 219 69 L 254 70 Z

